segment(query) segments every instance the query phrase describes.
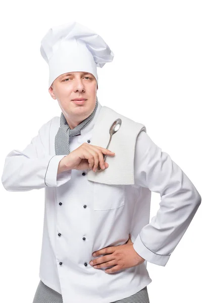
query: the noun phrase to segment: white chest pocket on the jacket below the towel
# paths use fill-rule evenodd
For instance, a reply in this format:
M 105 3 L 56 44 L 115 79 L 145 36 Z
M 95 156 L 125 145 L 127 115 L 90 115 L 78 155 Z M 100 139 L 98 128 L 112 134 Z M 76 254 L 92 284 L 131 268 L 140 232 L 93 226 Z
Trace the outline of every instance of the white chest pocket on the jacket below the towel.
M 105 211 L 123 207 L 125 203 L 125 185 L 93 184 L 93 210 Z

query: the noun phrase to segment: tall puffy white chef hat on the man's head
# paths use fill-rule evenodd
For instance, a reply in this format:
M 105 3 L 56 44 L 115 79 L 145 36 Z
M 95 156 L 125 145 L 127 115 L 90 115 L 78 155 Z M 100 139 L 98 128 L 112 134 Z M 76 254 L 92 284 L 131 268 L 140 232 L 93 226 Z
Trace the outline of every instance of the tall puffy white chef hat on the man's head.
M 112 62 L 114 53 L 102 37 L 78 22 L 50 28 L 41 40 L 40 53 L 49 66 L 48 88 L 64 73 L 91 73 L 98 86 L 96 67 Z

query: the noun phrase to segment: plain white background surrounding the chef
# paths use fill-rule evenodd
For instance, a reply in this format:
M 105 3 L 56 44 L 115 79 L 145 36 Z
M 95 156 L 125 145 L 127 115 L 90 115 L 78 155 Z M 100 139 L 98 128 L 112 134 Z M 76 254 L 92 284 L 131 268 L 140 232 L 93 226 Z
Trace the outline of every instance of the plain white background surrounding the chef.
M 194 0 L 1 5 L 2 172 L 11 150 L 23 150 L 42 124 L 61 114 L 48 93 L 40 41 L 52 26 L 77 21 L 102 36 L 115 54 L 113 62 L 97 68 L 100 104 L 144 124 L 201 194 L 201 14 L 201 2 Z M 44 189 L 8 192 L 0 185 L 1 299 L 32 303 L 39 282 Z M 150 218 L 159 203 L 160 195 L 152 193 Z M 147 262 L 150 303 L 200 301 L 201 212 L 200 206 L 165 267 Z

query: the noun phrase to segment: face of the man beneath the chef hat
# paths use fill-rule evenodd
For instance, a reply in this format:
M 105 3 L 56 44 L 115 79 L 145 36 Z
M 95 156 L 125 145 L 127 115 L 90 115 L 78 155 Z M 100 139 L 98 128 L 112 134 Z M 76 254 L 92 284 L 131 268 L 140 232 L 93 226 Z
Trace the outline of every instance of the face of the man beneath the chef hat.
M 54 99 L 58 100 L 68 124 L 73 128 L 93 112 L 97 81 L 91 73 L 65 73 L 54 80 L 48 91 Z M 86 100 L 79 104 L 73 101 L 75 98 Z

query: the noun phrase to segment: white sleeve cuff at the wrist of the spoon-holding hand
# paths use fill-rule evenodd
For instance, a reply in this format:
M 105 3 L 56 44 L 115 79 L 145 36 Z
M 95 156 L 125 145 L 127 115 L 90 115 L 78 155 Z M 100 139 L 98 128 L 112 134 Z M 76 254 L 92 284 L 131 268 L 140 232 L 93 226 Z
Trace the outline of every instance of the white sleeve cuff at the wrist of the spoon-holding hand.
M 44 177 L 44 183 L 46 186 L 58 187 L 71 179 L 72 170 L 58 174 L 59 163 L 65 156 L 66 155 L 55 155 L 49 160 Z

